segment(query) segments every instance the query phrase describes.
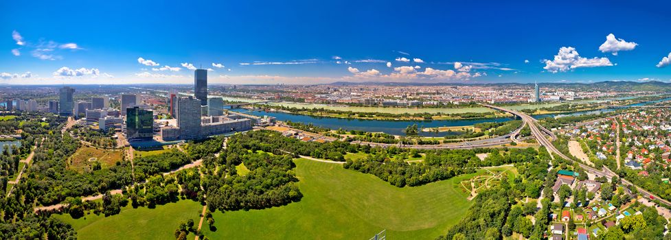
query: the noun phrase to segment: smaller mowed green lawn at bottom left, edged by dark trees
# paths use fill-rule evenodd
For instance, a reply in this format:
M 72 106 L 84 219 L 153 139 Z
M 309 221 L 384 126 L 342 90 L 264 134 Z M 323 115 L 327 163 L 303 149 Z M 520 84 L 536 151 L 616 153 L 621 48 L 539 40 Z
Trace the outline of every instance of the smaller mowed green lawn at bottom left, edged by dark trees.
M 198 224 L 202 210 L 198 202 L 181 200 L 156 208 L 132 208 L 128 204 L 121 213 L 109 217 L 103 214 L 86 215 L 86 219 L 72 219 L 68 214 L 54 216 L 72 224 L 81 240 L 174 239 L 174 230 L 181 222 L 194 219 Z

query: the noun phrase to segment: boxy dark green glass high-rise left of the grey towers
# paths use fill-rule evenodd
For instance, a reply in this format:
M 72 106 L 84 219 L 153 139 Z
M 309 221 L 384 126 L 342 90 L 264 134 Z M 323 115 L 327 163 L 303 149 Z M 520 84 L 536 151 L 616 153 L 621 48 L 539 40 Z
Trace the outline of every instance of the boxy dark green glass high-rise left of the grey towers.
M 154 135 L 154 114 L 139 107 L 126 108 L 126 139 L 149 140 Z

